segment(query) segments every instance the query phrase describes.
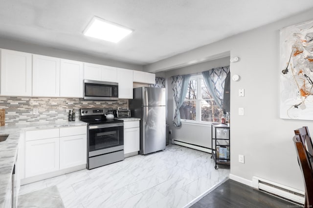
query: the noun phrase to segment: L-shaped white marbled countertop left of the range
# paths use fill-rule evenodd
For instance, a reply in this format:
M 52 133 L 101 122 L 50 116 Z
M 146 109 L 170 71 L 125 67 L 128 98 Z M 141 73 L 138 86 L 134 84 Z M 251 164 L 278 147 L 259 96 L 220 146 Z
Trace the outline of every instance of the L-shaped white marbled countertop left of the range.
M 0 135 L 9 134 L 8 138 L 0 142 L 0 208 L 4 207 L 7 189 L 11 183 L 11 176 L 15 158 L 18 152 L 20 135 L 25 131 L 55 129 L 63 127 L 87 126 L 82 121 L 66 121 L 55 123 L 31 123 L 23 125 L 1 126 Z

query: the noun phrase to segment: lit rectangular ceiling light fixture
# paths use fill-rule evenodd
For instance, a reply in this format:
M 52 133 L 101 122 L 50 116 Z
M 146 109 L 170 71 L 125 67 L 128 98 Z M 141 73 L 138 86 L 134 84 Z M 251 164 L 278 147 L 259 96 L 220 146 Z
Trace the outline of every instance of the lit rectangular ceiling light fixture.
M 117 43 L 132 32 L 133 30 L 119 24 L 93 17 L 84 30 L 84 35 Z

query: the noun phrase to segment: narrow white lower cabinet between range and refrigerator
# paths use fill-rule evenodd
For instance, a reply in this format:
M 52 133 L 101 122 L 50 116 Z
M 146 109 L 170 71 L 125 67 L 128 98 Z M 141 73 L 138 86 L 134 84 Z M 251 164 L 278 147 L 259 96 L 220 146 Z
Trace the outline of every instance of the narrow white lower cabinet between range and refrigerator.
M 139 138 L 139 121 L 124 120 L 124 154 L 139 151 Z

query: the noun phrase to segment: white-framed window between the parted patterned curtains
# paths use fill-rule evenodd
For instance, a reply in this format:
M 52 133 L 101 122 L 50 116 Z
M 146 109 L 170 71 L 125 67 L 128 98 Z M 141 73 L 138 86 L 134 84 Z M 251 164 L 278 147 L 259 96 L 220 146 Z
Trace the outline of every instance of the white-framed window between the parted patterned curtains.
M 202 75 L 192 76 L 182 106 L 181 121 L 220 122 L 223 110 L 215 103 L 205 86 Z

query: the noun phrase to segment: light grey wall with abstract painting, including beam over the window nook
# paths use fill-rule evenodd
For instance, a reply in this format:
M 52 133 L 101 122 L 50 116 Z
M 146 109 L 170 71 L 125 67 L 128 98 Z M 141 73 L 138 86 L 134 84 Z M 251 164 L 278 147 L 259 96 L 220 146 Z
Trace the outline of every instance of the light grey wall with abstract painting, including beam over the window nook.
M 313 19 L 312 14 L 310 9 L 144 66 L 147 72 L 168 70 L 227 51 L 231 57 L 240 57 L 230 64 L 230 72 L 241 76 L 240 81 L 231 82 L 231 174 L 247 180 L 255 175 L 304 190 L 292 137 L 293 130 L 302 126 L 313 132 L 313 121 L 279 118 L 279 29 Z M 238 97 L 241 88 L 245 97 Z M 245 115 L 238 115 L 239 107 L 245 108 Z M 245 164 L 238 163 L 238 154 L 245 155 Z

